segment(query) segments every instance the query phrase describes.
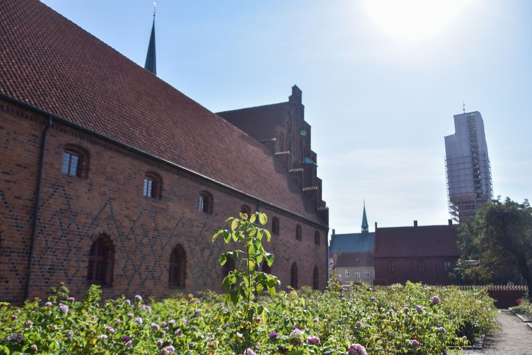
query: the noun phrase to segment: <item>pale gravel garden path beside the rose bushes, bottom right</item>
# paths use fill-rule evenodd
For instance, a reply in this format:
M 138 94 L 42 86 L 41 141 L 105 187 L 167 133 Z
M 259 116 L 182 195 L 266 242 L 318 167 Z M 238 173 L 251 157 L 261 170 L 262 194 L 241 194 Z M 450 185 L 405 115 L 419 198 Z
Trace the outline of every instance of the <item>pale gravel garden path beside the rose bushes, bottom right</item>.
M 500 310 L 497 322 L 501 325 L 501 331 L 486 336 L 483 349 L 466 350 L 464 355 L 532 355 L 532 329 L 526 323 L 504 309 Z

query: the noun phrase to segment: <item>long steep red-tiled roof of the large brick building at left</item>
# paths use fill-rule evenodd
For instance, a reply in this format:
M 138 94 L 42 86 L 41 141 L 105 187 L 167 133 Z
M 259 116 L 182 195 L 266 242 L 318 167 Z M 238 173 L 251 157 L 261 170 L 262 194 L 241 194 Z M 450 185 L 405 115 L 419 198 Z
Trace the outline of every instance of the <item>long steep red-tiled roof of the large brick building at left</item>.
M 0 94 L 323 225 L 262 144 L 36 0 L 0 2 Z

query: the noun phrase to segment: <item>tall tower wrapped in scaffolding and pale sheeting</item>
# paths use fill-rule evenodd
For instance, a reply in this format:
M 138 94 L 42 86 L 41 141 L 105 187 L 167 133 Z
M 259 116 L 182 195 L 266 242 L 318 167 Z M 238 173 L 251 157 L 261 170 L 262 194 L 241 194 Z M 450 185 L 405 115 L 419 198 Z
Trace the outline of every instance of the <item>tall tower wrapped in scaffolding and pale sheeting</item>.
M 493 199 L 492 171 L 480 112 L 454 115 L 455 133 L 445 138 L 449 213 L 457 222 Z

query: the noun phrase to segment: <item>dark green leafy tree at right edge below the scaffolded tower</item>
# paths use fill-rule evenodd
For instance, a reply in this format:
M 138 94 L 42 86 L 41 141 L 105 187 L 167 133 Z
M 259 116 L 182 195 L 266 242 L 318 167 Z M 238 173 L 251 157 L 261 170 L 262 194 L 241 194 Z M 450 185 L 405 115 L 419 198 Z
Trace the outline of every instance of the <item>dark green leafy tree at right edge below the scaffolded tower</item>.
M 521 276 L 532 296 L 532 207 L 506 198 L 483 205 L 460 225 L 463 251 L 453 276 L 462 282 L 500 283 Z M 466 260 L 480 260 L 470 266 Z

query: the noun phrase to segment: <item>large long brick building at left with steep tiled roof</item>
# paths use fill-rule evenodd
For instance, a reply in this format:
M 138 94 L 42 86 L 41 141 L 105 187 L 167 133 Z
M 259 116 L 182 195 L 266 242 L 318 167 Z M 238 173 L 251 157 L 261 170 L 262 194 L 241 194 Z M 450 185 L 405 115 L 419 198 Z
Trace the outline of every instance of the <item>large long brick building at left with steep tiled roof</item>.
M 1 2 L 0 31 L 0 300 L 59 282 L 78 297 L 94 283 L 106 297 L 220 291 L 227 249 L 212 234 L 255 210 L 271 272 L 325 288 L 328 209 L 301 90 L 283 105 L 300 114 L 264 122 L 307 130 L 277 154 L 36 0 Z

